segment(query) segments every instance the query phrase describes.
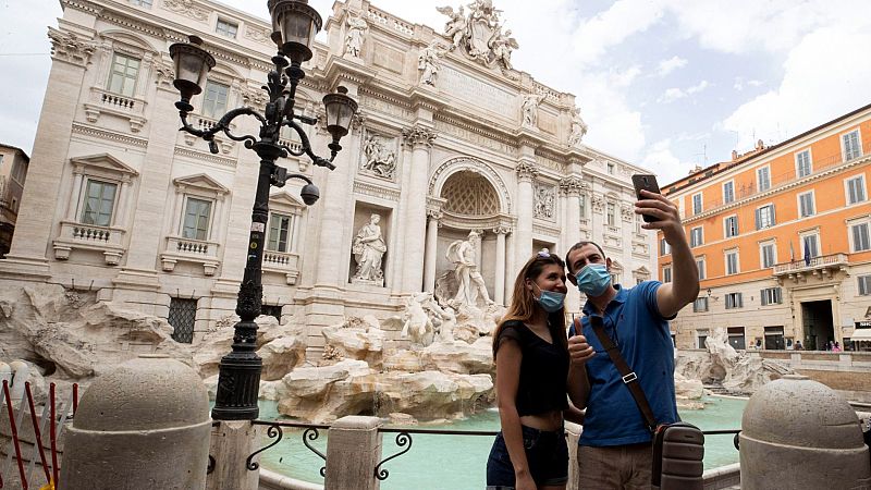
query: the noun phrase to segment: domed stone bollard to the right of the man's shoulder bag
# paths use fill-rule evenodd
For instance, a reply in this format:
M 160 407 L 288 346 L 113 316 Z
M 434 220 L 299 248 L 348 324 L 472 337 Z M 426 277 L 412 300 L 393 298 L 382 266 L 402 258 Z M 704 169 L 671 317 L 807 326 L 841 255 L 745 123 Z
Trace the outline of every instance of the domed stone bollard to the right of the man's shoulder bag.
M 856 412 L 829 387 L 787 375 L 744 411 L 741 488 L 867 489 L 871 463 Z

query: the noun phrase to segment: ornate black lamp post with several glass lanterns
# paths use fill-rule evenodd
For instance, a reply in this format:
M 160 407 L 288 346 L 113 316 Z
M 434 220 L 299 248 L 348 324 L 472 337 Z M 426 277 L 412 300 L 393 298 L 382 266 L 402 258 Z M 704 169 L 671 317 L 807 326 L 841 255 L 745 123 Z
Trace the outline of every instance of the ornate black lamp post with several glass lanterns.
M 333 170 L 335 167 L 332 161 L 342 149 L 339 140 L 347 134 L 351 119 L 357 111 L 357 102 L 346 95 L 344 87 L 339 87 L 336 94 L 323 97 L 327 131 L 332 136 L 332 142 L 328 145 L 331 155 L 329 160 L 315 155 L 308 136 L 298 123 L 312 125 L 318 120 L 294 112 L 294 97 L 296 86 L 305 77 L 300 64 L 311 59 L 310 46 L 321 27 L 321 19 L 307 0 L 269 0 L 268 7 L 272 16 L 272 40 L 278 46 L 278 53 L 272 57 L 274 70 L 269 72 L 268 83 L 263 87 L 269 94 L 269 102 L 262 114 L 243 107 L 229 111 L 208 130 L 191 126 L 187 123 L 187 114 L 194 110 L 191 98 L 203 91 L 206 75 L 214 66 L 214 58 L 201 48 L 203 40 L 196 36 L 191 36 L 187 44 L 176 42 L 170 46 L 170 56 L 175 64 L 173 85 L 181 94 L 181 100 L 175 102 L 182 119 L 181 131 L 208 142 L 212 154 L 218 152 L 214 135 L 223 133 L 230 139 L 245 142 L 245 147 L 260 157 L 248 256 L 236 302 L 236 314 L 241 320 L 234 326 L 233 351 L 221 358 L 219 365 L 218 394 L 211 413 L 217 420 L 252 420 L 259 414 L 257 394 L 262 362 L 254 352 L 257 348 L 257 323 L 254 319 L 260 315 L 262 302 L 263 287 L 260 278 L 269 218 L 269 186 L 281 187 L 289 179 L 299 179 L 306 182 L 299 193 L 306 205 L 315 204 L 320 197 L 318 187 L 310 179 L 298 173 L 287 174 L 287 170 L 277 166 L 275 160 L 287 155 L 307 155 L 316 166 Z M 230 123 L 240 115 L 252 115 L 260 122 L 259 137 L 231 134 Z M 282 126 L 296 131 L 302 148 L 294 150 L 279 143 Z

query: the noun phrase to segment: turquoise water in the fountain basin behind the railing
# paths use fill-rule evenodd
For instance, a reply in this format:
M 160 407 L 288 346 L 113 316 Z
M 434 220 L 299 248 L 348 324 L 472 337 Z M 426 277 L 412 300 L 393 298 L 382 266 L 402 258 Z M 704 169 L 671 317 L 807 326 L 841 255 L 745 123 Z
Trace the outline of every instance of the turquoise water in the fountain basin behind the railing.
M 680 417 L 702 430 L 739 429 L 746 400 L 720 396 L 704 400 L 702 411 L 683 411 Z M 260 418 L 278 417 L 275 404 L 260 402 Z M 487 411 L 464 420 L 446 425 L 421 425 L 417 428 L 450 430 L 499 430 L 499 414 Z M 383 436 L 382 458 L 402 451 L 395 434 Z M 383 468 L 390 471 L 381 482 L 384 490 L 464 490 L 484 487 L 484 467 L 492 437 L 482 436 L 428 436 L 413 434 L 412 450 L 388 462 Z M 704 468 L 715 468 L 738 462 L 738 451 L 733 445 L 733 436 L 707 436 L 704 444 Z M 311 442 L 320 452 L 327 453 L 327 433 Z M 323 461 L 303 445 L 302 431 L 286 431 L 281 443 L 261 454 L 265 468 L 305 481 L 323 483 L 320 468 Z

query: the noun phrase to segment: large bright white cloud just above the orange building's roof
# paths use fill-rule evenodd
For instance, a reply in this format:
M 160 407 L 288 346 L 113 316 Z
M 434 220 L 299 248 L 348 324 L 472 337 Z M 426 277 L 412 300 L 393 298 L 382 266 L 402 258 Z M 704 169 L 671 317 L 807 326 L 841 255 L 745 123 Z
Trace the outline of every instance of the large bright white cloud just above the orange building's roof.
M 783 140 L 866 105 L 871 65 L 861 61 L 861 46 L 871 46 L 867 26 L 809 34 L 786 58 L 780 86 L 743 103 L 723 127 L 739 133 L 739 148 L 750 148 L 753 135 L 765 143 Z

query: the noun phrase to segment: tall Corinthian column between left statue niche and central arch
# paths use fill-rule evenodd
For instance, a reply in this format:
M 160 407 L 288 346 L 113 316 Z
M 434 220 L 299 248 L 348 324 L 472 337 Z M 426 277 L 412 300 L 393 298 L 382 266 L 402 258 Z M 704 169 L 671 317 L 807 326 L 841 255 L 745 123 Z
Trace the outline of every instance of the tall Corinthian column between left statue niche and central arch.
M 427 177 L 429 152 L 436 132 L 421 124 L 402 131 L 405 144 L 412 148 L 412 175 L 405 209 L 405 261 L 402 291 L 418 292 L 424 289 L 424 236 L 427 233 Z

